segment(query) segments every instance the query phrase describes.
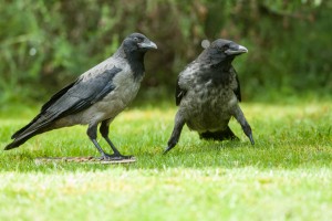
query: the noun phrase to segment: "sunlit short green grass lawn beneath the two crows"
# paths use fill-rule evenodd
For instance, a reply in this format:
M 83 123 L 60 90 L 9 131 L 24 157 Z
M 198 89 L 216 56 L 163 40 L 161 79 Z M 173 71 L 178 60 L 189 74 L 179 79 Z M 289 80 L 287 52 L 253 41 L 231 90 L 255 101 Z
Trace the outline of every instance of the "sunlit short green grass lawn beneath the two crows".
M 231 120 L 241 141 L 204 141 L 185 127 L 162 156 L 176 112 L 163 105 L 128 109 L 111 126 L 135 164 L 34 164 L 97 155 L 83 126 L 1 151 L 0 220 L 331 220 L 332 103 L 241 106 L 255 146 Z M 2 107 L 0 146 L 37 112 Z

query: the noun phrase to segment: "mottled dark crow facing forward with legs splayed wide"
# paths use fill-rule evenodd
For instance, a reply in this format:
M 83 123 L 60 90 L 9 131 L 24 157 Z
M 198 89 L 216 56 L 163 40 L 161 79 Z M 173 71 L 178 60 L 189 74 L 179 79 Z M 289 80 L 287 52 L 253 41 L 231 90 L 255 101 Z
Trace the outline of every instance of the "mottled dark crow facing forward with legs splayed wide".
M 238 139 L 228 127 L 231 116 L 255 144 L 250 125 L 238 105 L 240 84 L 231 65 L 237 55 L 246 52 L 245 46 L 219 39 L 179 74 L 175 95 L 179 109 L 165 152 L 178 143 L 185 124 L 204 139 Z

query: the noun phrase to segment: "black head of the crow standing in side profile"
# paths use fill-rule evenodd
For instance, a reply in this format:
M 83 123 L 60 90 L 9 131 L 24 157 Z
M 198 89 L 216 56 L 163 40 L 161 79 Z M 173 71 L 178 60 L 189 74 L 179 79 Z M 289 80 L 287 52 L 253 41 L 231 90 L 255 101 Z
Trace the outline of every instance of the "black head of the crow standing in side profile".
M 125 53 L 145 53 L 148 50 L 157 49 L 157 45 L 141 33 L 133 33 L 123 41 Z

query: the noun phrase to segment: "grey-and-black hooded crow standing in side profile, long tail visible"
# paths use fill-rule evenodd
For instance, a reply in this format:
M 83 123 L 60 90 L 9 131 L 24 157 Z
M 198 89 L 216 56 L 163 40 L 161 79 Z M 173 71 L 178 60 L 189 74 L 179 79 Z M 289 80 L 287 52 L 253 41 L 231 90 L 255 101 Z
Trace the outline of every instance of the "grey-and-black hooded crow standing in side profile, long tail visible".
M 112 144 L 108 127 L 135 98 L 144 76 L 144 54 L 151 49 L 157 49 L 157 45 L 145 35 L 128 35 L 113 56 L 54 94 L 31 123 L 12 135 L 13 141 L 4 149 L 19 147 L 38 134 L 81 124 L 89 125 L 87 136 L 103 160 L 128 158 Z M 106 154 L 96 141 L 98 124 L 113 155 Z

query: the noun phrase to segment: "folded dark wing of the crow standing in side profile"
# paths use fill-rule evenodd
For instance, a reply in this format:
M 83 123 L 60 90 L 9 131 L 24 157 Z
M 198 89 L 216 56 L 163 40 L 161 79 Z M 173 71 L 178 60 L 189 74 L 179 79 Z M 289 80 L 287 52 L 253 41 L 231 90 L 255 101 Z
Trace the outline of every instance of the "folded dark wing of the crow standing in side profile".
M 30 124 L 18 130 L 12 138 L 34 133 L 49 126 L 55 119 L 79 113 L 101 101 L 115 88 L 112 80 L 121 71 L 121 69 L 114 66 L 86 81 L 76 80 L 54 94 L 42 106 L 40 114 Z

